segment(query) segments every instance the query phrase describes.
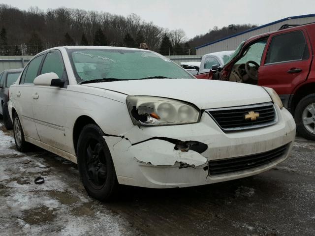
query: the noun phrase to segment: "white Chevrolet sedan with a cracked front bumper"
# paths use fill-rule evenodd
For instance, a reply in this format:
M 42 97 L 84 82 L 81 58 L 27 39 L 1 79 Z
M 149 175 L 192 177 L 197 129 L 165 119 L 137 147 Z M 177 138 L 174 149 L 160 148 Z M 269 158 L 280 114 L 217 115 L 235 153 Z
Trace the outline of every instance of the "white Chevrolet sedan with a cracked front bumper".
M 158 53 L 57 47 L 10 87 L 16 148 L 74 163 L 87 192 L 188 187 L 248 177 L 289 155 L 295 123 L 273 89 L 198 80 Z

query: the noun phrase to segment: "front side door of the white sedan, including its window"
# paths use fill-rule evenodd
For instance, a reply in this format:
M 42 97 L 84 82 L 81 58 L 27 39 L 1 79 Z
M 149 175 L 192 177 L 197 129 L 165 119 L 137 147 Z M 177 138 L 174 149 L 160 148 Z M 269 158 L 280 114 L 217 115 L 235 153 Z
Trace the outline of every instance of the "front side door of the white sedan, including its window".
M 68 83 L 62 55 L 59 51 L 47 53 L 39 74 L 56 73 L 61 80 Z M 66 88 L 53 86 L 34 86 L 32 109 L 34 121 L 41 142 L 55 148 L 68 148 L 65 146 L 65 109 Z

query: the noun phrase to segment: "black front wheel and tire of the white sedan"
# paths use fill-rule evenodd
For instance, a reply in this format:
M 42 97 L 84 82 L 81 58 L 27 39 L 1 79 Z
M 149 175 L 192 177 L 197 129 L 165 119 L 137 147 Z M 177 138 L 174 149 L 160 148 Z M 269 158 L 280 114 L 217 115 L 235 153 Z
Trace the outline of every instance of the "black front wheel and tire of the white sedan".
M 117 185 L 116 173 L 103 131 L 95 124 L 83 127 L 77 145 L 78 169 L 85 190 L 99 200 L 109 200 Z

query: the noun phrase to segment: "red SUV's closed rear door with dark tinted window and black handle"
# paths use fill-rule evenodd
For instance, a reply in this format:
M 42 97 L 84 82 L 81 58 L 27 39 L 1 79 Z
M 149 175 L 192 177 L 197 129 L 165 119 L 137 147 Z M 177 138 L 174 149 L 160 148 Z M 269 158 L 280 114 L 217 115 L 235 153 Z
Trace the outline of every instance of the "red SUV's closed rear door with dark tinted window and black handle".
M 304 29 L 292 29 L 269 37 L 267 48 L 259 67 L 258 85 L 275 89 L 286 106 L 293 89 L 309 74 L 310 42 Z

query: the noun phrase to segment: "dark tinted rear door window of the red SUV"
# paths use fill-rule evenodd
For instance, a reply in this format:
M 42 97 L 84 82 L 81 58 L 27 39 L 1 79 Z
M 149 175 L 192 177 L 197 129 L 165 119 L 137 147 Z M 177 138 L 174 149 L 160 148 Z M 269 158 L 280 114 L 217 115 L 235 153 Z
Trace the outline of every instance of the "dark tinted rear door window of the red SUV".
M 309 48 L 302 31 L 274 36 L 271 40 L 266 64 L 309 58 Z

